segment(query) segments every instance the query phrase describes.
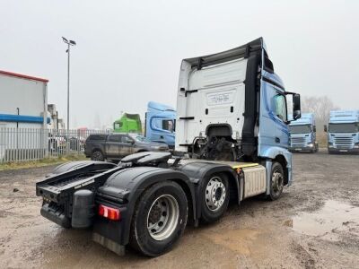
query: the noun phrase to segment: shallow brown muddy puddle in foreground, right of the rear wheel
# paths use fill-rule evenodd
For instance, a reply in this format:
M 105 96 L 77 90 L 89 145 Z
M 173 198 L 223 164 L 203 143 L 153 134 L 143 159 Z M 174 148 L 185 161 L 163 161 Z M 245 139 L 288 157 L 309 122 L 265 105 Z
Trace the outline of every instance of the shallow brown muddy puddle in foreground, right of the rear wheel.
M 258 230 L 242 229 L 228 230 L 223 233 L 211 233 L 205 236 L 217 245 L 227 247 L 243 255 L 250 255 L 251 243 L 257 239 L 258 234 Z

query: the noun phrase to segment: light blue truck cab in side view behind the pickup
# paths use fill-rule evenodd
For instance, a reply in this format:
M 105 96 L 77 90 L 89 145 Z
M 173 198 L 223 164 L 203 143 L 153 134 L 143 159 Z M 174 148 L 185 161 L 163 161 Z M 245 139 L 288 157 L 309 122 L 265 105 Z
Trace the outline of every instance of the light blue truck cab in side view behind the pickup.
M 170 106 L 150 101 L 145 114 L 144 136 L 153 142 L 174 148 L 176 111 Z

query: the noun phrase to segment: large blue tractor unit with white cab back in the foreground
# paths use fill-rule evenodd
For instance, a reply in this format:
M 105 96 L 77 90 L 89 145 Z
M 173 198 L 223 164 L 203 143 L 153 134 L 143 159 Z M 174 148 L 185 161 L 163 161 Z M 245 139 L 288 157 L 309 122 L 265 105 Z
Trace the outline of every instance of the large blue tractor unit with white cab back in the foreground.
M 174 155 L 63 164 L 36 185 L 41 214 L 66 228 L 91 227 L 92 239 L 118 255 L 130 246 L 160 256 L 188 222 L 219 220 L 230 199 L 276 200 L 291 185 L 288 96 L 297 119 L 300 95 L 285 91 L 261 38 L 184 59 Z

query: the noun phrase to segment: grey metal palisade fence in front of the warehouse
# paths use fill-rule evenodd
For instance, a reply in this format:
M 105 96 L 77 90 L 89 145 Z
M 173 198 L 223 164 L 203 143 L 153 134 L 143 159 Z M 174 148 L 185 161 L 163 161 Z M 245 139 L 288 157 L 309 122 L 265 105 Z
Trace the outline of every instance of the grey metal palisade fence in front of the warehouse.
M 90 134 L 106 133 L 83 129 L 67 132 L 41 128 L 0 127 L 0 163 L 83 154 L 84 143 Z

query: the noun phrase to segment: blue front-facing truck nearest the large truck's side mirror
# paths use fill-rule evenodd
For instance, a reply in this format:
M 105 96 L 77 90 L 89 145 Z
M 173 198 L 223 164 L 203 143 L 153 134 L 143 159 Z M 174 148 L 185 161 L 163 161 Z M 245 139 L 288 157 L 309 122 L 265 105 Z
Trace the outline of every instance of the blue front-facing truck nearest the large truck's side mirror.
M 291 122 L 289 131 L 291 152 L 318 152 L 317 127 L 313 113 L 303 113 L 300 119 Z

